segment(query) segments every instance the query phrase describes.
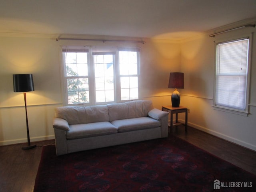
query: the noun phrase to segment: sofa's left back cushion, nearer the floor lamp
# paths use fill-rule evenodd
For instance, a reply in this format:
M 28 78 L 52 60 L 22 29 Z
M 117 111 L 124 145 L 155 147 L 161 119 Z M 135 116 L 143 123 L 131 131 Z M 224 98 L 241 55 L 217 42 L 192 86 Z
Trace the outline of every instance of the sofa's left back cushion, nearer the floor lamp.
M 70 125 L 109 121 L 106 105 L 58 107 L 55 110 L 55 117 L 65 119 Z

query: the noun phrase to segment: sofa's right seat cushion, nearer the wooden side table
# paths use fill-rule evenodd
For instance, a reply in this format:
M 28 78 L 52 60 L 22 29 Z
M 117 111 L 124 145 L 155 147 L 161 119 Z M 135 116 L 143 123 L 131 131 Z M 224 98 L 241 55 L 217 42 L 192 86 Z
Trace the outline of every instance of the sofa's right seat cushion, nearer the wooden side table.
M 134 130 L 150 129 L 161 126 L 158 120 L 149 117 L 115 120 L 111 123 L 118 128 L 118 132 L 120 133 Z

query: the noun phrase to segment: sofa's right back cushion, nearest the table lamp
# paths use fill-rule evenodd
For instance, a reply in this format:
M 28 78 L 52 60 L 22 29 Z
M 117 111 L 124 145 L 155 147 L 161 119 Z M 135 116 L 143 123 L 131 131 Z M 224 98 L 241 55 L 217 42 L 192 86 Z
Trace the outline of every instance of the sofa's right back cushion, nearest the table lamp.
M 146 117 L 153 108 L 149 100 L 136 100 L 125 103 L 108 104 L 108 114 L 110 122 L 119 119 L 130 119 Z

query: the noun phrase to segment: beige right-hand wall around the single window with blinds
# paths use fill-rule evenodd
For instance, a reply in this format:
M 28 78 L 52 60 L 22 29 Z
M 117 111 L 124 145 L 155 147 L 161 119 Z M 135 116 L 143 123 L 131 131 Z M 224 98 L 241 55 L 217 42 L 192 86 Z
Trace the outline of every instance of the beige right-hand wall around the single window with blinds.
M 226 26 L 232 27 L 234 26 Z M 188 121 L 191 126 L 256 150 L 256 38 L 255 34 L 252 35 L 253 32 L 256 32 L 256 28 L 243 28 L 215 37 L 209 37 L 209 32 L 181 42 L 181 71 L 185 76 L 185 88 L 181 93 L 182 105 L 190 108 Z M 250 114 L 241 116 L 214 110 L 214 41 L 250 35 L 253 36 Z

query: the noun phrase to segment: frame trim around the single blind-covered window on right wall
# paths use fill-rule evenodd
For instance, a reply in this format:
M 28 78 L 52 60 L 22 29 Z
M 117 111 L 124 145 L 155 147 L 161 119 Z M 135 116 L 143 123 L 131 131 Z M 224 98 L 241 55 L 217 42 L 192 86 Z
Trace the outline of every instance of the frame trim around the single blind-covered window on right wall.
M 237 40 L 242 39 L 248 39 L 248 64 L 247 64 L 247 78 L 246 78 L 246 87 L 245 87 L 245 109 L 241 110 L 238 108 L 232 108 L 228 106 L 221 106 L 216 104 L 217 96 L 216 96 L 216 68 L 217 68 L 217 45 L 220 43 L 228 43 L 228 42 L 234 42 Z M 224 112 L 230 112 L 233 114 L 238 114 L 242 116 L 248 116 L 249 114 L 249 93 L 250 93 L 250 68 L 251 68 L 251 53 L 252 53 L 252 34 L 244 35 L 244 36 L 235 36 L 233 38 L 223 38 L 223 39 L 217 39 L 214 41 L 214 48 L 215 48 L 215 54 L 214 54 L 214 96 L 213 96 L 213 105 L 212 107 L 215 110 L 220 110 Z

